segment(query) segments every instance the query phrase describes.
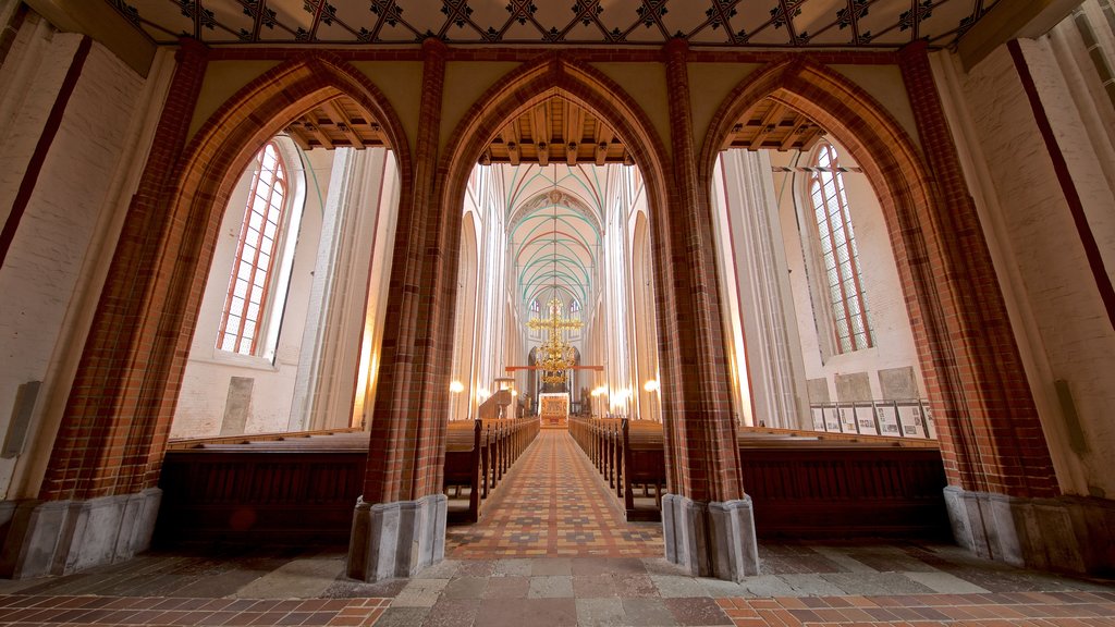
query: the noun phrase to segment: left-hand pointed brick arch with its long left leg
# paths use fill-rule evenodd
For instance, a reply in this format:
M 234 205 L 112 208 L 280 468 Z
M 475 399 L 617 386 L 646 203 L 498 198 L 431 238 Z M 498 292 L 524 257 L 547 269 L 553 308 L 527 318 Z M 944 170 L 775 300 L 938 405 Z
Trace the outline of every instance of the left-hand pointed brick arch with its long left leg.
M 157 482 L 217 230 L 236 179 L 268 138 L 297 116 L 341 95 L 365 107 L 384 127 L 389 145 L 396 151 L 403 186 L 400 202 L 406 203 L 410 156 L 398 116 L 367 77 L 332 55 L 317 52 L 272 68 L 229 98 L 202 125 L 182 156 L 171 157 L 169 175 L 161 187 L 164 193 L 144 199 L 151 203 L 149 213 L 129 215 L 128 220 L 136 224 L 155 221 L 148 214 L 168 216 L 162 222 L 167 224 L 165 229 L 133 226 L 144 231 L 138 239 L 142 241 L 122 237 L 105 287 L 105 293 L 112 298 L 127 292 L 129 300 L 144 305 L 129 321 L 132 328 L 123 341 L 117 339 L 116 331 L 97 328 L 98 324 L 113 325 L 108 320 L 114 315 L 98 308 L 97 318 L 106 321 L 94 321 L 78 377 L 99 376 L 98 363 L 107 360 L 124 364 L 112 366 L 118 368 L 120 378 L 142 382 L 142 386 L 135 386 L 138 392 L 134 399 L 110 409 L 113 428 L 128 431 L 125 453 L 128 463 L 142 469 L 120 473 L 115 483 L 98 488 L 94 494 L 135 492 Z M 153 149 L 145 177 L 165 164 L 158 161 L 163 158 L 159 149 L 158 146 Z M 137 272 L 151 279 L 136 280 Z M 105 298 L 101 297 L 103 305 Z M 84 404 L 80 396 L 71 394 L 69 404 L 75 403 Z M 61 444 L 56 444 L 41 491 L 43 498 L 66 496 L 55 485 L 72 472 L 71 466 L 89 463 L 66 456 L 69 442 L 88 437 L 81 428 L 81 421 L 62 425 L 58 435 Z M 94 469 L 94 472 L 105 470 Z

